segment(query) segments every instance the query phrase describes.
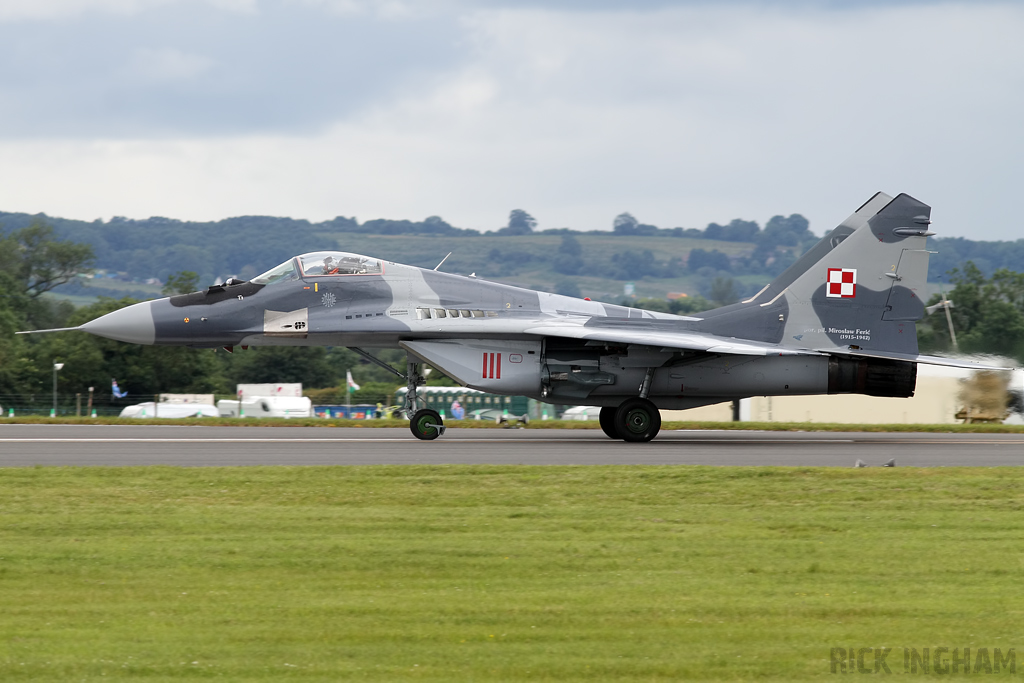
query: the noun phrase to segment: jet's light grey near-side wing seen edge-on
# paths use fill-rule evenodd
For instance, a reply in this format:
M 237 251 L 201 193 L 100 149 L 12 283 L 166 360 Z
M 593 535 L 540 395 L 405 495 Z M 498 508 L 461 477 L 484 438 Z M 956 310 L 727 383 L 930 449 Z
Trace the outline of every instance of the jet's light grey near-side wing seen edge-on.
M 696 332 L 588 327 L 585 325 L 566 324 L 564 321 L 548 324 L 539 323 L 526 328 L 523 332 L 547 337 L 584 339 L 588 341 L 611 342 L 614 344 L 641 344 L 644 346 L 707 351 L 708 353 L 735 353 L 737 355 L 825 355 L 818 351 L 785 348 L 776 344 L 735 339 L 733 337 L 718 337 Z

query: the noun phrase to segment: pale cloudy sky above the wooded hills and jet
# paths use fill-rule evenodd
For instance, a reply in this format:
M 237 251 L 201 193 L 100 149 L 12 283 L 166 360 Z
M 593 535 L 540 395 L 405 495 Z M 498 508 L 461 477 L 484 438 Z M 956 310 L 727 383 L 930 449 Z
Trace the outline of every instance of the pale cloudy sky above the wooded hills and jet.
M 0 0 L 0 211 L 1024 237 L 1024 3 Z

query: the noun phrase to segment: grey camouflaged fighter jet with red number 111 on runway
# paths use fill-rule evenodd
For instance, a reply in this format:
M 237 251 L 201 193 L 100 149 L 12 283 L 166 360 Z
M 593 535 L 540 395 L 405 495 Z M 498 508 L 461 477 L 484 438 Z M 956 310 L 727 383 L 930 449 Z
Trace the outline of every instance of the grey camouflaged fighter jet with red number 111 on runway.
M 346 346 L 408 384 L 410 427 L 444 433 L 417 396 L 428 364 L 463 386 L 600 405 L 611 438 L 649 441 L 658 409 L 754 395 L 912 396 L 931 208 L 879 193 L 754 296 L 672 315 L 337 251 L 251 281 L 137 303 L 77 328 L 135 344 Z M 56 332 L 56 331 L 40 331 Z M 368 349 L 400 348 L 406 372 Z

